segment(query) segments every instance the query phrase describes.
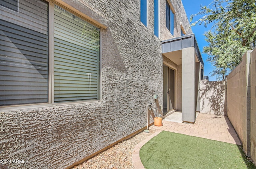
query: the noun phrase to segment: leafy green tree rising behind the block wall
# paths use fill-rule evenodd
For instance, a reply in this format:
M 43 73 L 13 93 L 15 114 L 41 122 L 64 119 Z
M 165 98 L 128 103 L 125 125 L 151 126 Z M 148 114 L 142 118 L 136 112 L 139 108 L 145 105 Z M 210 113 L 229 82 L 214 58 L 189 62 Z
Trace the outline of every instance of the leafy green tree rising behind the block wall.
M 192 24 L 207 25 L 212 29 L 204 33 L 208 46 L 204 53 L 206 61 L 215 67 L 212 76 L 222 79 L 241 61 L 246 50 L 252 49 L 256 41 L 256 0 L 214 0 L 209 6 L 201 6 L 198 14 L 203 15 Z

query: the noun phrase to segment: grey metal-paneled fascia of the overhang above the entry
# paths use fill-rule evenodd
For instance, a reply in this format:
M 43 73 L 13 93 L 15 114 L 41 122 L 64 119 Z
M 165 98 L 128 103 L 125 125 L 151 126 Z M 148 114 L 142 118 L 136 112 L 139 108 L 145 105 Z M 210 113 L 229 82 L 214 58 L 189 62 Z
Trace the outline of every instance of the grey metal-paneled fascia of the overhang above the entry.
M 187 47 L 195 48 L 196 56 L 204 69 L 204 61 L 202 59 L 194 33 L 162 41 L 162 54 L 168 55 L 168 53 L 172 52 L 174 55 L 179 55 L 179 51 Z

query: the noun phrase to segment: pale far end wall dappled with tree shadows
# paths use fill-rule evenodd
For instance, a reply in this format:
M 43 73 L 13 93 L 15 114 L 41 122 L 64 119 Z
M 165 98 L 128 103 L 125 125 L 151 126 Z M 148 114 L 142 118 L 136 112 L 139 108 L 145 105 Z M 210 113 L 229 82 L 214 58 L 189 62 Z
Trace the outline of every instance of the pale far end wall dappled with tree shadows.
M 200 81 L 200 112 L 224 115 L 225 96 L 225 81 Z

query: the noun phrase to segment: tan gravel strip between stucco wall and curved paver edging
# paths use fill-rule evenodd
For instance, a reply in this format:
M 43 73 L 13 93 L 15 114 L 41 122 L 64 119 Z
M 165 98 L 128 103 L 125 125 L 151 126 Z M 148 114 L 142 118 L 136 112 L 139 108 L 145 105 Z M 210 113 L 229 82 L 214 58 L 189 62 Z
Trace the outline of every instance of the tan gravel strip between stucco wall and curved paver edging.
M 72 169 L 134 169 L 132 165 L 132 150 L 140 141 L 153 133 L 154 130 L 150 130 L 150 133 L 141 132 L 110 147 L 84 163 L 74 166 Z

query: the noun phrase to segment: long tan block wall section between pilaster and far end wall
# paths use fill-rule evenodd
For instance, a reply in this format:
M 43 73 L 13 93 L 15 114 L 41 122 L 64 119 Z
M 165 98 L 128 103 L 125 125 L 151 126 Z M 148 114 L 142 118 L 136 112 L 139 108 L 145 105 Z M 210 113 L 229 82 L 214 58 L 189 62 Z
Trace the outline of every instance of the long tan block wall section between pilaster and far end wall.
M 227 77 L 227 108 L 228 118 L 240 140 L 244 149 L 247 151 L 246 131 L 246 53 L 243 55 L 243 61 Z

